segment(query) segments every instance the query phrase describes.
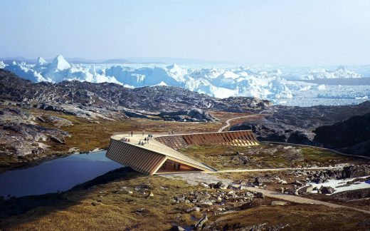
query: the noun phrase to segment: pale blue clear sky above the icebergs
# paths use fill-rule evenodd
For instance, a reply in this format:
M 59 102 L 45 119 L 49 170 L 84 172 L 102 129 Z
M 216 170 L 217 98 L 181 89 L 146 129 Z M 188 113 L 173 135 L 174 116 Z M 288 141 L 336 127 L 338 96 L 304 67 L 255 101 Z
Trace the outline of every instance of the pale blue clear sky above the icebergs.
M 0 0 L 0 57 L 370 64 L 370 1 Z

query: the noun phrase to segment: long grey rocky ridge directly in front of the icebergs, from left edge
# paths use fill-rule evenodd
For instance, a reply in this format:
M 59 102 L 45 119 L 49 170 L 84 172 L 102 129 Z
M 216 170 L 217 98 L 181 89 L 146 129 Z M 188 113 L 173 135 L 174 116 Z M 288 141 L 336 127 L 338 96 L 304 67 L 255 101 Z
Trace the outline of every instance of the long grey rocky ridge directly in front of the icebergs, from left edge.
M 59 110 L 61 104 L 122 108 L 143 111 L 184 111 L 192 108 L 213 111 L 255 111 L 268 108 L 270 101 L 257 98 L 213 98 L 172 86 L 125 88 L 115 83 L 63 81 L 32 83 L 0 69 L 0 95 L 3 101 L 46 103 L 45 110 Z M 44 106 L 42 106 L 44 107 Z

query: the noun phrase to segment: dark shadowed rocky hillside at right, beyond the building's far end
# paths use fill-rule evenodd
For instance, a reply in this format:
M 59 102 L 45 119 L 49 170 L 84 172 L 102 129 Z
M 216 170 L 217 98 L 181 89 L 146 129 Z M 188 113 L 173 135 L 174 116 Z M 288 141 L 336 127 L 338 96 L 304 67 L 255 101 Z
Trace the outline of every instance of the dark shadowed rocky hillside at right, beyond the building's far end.
M 364 113 L 370 114 L 370 101 L 347 106 L 273 106 L 261 113 L 267 116 L 233 125 L 230 130 L 253 130 L 261 141 L 324 145 L 328 148 L 350 147 L 369 140 L 369 116 Z M 349 118 L 351 116 L 354 117 Z M 369 147 L 366 143 L 364 145 Z M 369 152 L 363 146 L 353 151 L 359 153 L 362 149 Z

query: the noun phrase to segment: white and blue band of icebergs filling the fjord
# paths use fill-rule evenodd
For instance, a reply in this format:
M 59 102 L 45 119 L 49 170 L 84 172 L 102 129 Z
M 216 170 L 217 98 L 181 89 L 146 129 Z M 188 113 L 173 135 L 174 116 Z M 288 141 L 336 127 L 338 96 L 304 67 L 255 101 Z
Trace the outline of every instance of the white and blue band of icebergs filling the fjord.
M 335 69 L 299 66 L 74 64 L 63 56 L 51 62 L 39 57 L 36 64 L 16 62 L 0 68 L 33 82 L 89 81 L 117 83 L 128 88 L 178 86 L 217 98 L 253 96 L 291 106 L 361 103 L 370 97 L 370 84 L 327 86 L 318 79 L 362 78 L 344 66 Z

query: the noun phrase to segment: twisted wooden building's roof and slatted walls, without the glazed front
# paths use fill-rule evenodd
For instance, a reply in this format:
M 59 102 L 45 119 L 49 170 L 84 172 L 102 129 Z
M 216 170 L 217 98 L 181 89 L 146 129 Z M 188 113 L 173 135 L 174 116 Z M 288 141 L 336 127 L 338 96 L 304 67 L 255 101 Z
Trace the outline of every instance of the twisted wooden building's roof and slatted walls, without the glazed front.
M 231 134 L 232 133 L 232 134 Z M 252 135 L 250 135 L 250 133 Z M 175 149 L 188 145 L 223 144 L 223 145 L 256 145 L 254 134 L 248 131 L 196 133 L 184 135 L 154 135 L 154 139 L 144 145 L 139 144 L 147 136 L 128 134 L 113 135 L 107 150 L 107 158 L 122 165 L 129 166 L 140 173 L 153 175 L 169 159 L 189 165 L 203 171 L 214 171 L 213 168 L 199 163 Z M 129 141 L 127 140 L 129 139 Z M 252 141 L 246 141 L 252 140 Z

